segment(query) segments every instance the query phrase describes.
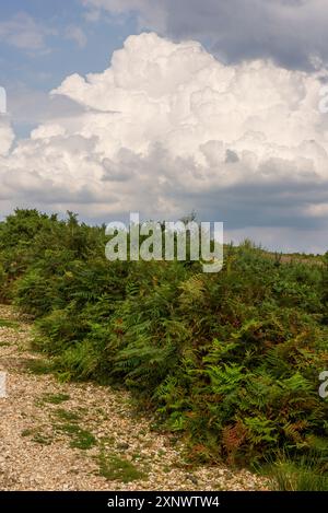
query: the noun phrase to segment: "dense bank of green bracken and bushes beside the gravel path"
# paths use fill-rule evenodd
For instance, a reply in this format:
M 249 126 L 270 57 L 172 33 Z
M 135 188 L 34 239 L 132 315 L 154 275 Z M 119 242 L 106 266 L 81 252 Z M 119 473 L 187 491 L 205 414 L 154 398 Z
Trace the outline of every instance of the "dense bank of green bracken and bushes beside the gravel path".
M 0 241 L 2 299 L 37 319 L 35 346 L 62 380 L 125 385 L 191 458 L 326 457 L 326 258 L 245 243 L 225 247 L 213 275 L 190 261 L 109 263 L 104 226 L 34 210 L 2 222 Z

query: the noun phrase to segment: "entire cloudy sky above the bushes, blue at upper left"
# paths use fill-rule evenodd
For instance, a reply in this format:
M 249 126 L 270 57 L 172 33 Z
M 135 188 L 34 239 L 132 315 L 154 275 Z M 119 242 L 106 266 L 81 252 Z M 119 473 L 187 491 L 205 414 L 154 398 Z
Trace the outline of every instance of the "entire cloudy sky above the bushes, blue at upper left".
M 326 252 L 327 62 L 327 0 L 0 0 L 0 218 Z

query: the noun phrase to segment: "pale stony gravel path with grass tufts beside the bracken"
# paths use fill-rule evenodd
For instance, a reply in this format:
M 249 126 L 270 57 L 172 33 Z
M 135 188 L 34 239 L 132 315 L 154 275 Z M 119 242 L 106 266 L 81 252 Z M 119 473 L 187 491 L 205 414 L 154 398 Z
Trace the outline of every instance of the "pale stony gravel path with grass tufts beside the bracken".
M 31 328 L 0 306 L 0 490 L 266 489 L 246 470 L 188 466 L 184 447 L 152 431 L 127 393 L 36 374 Z

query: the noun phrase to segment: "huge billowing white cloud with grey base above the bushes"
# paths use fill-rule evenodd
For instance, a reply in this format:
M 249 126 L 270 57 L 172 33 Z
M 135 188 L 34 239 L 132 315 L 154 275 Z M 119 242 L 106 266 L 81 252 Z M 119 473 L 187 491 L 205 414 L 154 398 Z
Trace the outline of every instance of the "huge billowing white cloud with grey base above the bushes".
M 42 124 L 9 154 L 3 129 L 2 207 L 30 201 L 105 221 L 196 209 L 235 229 L 305 218 L 315 228 L 315 206 L 328 205 L 320 88 L 270 61 L 227 66 L 197 42 L 130 36 L 104 72 L 52 91 L 81 114 Z

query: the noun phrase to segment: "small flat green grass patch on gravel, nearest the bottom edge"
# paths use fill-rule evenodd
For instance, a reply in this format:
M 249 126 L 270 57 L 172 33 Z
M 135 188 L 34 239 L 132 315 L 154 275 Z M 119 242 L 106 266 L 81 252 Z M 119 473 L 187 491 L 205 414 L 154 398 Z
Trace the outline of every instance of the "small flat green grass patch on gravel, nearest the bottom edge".
M 147 475 L 139 470 L 131 462 L 114 454 L 101 452 L 98 456 L 99 474 L 108 481 L 131 482 L 147 479 Z

